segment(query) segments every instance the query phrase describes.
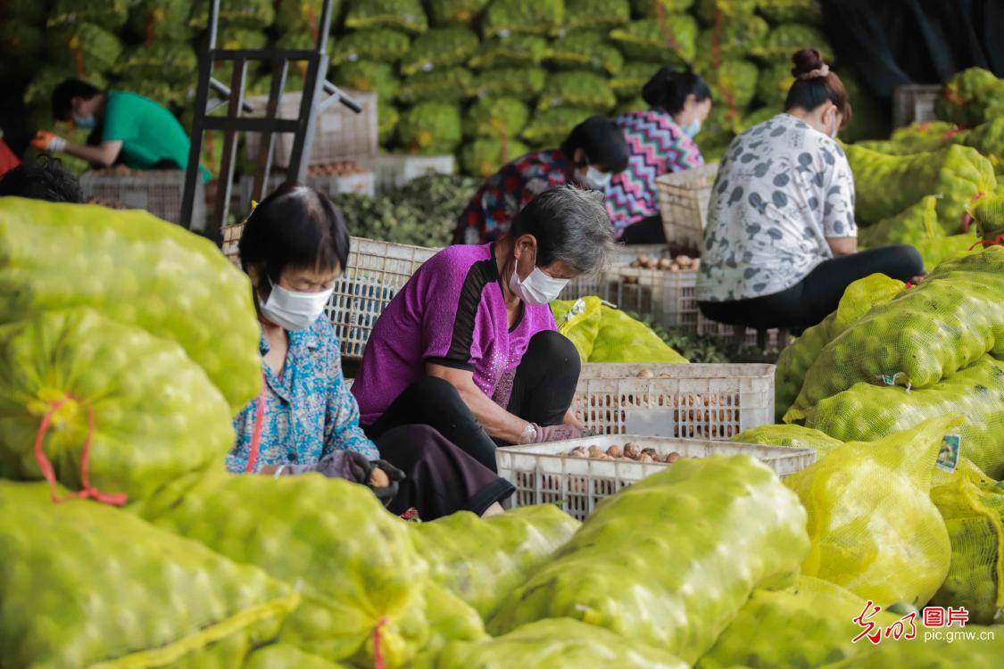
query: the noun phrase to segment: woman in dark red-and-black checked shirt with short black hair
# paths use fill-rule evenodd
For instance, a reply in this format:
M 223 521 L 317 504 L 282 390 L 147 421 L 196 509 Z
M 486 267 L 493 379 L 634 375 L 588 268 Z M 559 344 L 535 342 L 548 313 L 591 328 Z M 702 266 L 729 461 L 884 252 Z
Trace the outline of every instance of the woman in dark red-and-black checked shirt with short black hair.
M 617 125 L 591 116 L 572 129 L 560 148 L 522 155 L 489 177 L 457 222 L 454 244 L 500 239 L 516 214 L 536 196 L 565 184 L 603 192 L 628 164 L 628 144 Z

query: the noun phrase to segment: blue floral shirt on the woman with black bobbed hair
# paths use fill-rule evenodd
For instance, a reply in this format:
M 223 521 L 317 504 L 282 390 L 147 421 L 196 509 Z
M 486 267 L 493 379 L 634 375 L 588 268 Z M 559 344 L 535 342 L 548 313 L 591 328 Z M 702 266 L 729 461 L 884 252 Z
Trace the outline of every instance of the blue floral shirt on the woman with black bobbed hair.
M 261 354 L 268 353 L 262 335 Z M 369 459 L 380 454 L 359 427 L 359 409 L 341 374 L 341 352 L 330 321 L 321 316 L 306 330 L 289 333 L 289 352 L 282 375 L 263 364 L 265 417 L 256 468 L 279 464 L 313 464 L 336 448 L 354 450 Z M 234 418 L 237 442 L 227 455 L 227 469 L 247 466 L 256 400 Z

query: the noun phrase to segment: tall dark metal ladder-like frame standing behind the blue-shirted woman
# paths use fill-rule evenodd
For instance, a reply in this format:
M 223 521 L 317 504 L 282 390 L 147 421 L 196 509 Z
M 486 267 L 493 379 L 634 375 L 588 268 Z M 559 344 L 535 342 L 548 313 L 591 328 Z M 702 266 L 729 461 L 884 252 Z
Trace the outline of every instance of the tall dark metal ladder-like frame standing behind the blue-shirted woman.
M 339 102 L 358 113 L 361 105 L 325 79 L 327 73 L 327 39 L 331 24 L 331 0 L 324 0 L 317 28 L 314 50 L 274 49 L 218 49 L 216 34 L 220 17 L 220 0 L 212 0 L 209 14 L 209 41 L 199 54 L 199 84 L 196 89 L 195 118 L 192 121 L 191 147 L 185 174 L 185 195 L 182 200 L 181 224 L 192 230 L 192 212 L 195 207 L 196 180 L 201 179 L 199 157 L 202 154 L 203 133 L 222 130 L 223 155 L 220 163 L 219 187 L 205 234 L 221 243 L 220 231 L 226 224 L 233 189 L 234 168 L 237 153 L 238 132 L 260 132 L 258 155 L 255 159 L 254 187 L 251 198 L 261 201 L 265 197 L 276 132 L 293 134 L 292 153 L 286 170 L 286 182 L 303 182 L 306 178 L 310 146 L 313 143 L 317 116 L 331 104 Z M 217 61 L 233 62 L 234 70 L 227 86 L 213 77 L 213 64 Z M 248 62 L 267 62 L 271 65 L 271 86 L 264 116 L 242 116 L 254 108 L 244 101 Z M 286 85 L 286 72 L 290 61 L 306 61 L 303 93 L 300 97 L 299 115 L 296 118 L 276 116 Z M 210 99 L 210 89 L 219 97 Z M 209 114 L 223 104 L 228 104 L 226 116 Z

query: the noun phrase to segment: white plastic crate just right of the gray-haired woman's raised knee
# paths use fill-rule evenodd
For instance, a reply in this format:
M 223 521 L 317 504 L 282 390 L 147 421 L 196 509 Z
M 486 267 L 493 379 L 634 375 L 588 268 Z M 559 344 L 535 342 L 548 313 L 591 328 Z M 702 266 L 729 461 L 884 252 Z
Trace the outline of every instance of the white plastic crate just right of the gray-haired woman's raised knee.
M 588 363 L 571 409 L 599 434 L 730 439 L 774 421 L 774 365 Z

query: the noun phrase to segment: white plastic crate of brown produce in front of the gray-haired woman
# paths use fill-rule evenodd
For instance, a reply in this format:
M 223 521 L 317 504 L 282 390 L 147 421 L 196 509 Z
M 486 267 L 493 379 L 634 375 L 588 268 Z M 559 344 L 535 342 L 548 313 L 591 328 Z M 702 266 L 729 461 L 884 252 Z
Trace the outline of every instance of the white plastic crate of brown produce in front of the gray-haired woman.
M 510 497 L 512 507 L 559 504 L 570 516 L 584 520 L 603 497 L 673 464 L 637 462 L 560 455 L 575 446 L 596 445 L 603 450 L 634 441 L 643 448 L 660 453 L 677 451 L 683 457 L 735 455 L 747 453 L 757 458 L 779 476 L 788 476 L 815 461 L 809 448 L 786 448 L 731 441 L 703 441 L 634 435 L 594 436 L 569 441 L 526 446 L 503 446 L 495 451 L 499 475 L 516 487 Z

